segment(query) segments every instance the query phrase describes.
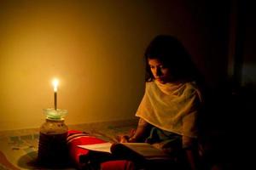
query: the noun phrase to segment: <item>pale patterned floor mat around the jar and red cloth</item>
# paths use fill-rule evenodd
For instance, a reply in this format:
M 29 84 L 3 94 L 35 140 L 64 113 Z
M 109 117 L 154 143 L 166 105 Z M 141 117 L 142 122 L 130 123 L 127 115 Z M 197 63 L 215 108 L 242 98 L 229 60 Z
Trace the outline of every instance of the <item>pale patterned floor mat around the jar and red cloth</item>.
M 127 120 L 68 125 L 68 128 L 89 133 L 106 141 L 117 141 L 119 135 L 129 134 L 136 126 L 137 120 Z M 38 128 L 0 132 L 0 170 L 49 169 L 38 167 L 36 164 L 38 140 Z M 74 170 L 75 168 L 71 165 L 55 169 Z

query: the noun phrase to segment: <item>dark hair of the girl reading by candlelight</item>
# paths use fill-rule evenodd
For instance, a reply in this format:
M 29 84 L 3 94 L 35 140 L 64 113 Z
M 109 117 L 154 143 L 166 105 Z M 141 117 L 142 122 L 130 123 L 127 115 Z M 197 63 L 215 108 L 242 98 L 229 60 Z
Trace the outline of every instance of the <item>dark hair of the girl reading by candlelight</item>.
M 198 81 L 201 77 L 189 53 L 176 37 L 159 35 L 154 37 L 145 51 L 146 82 L 154 80 L 148 59 L 160 59 L 163 65 L 171 70 L 172 77 L 177 81 Z

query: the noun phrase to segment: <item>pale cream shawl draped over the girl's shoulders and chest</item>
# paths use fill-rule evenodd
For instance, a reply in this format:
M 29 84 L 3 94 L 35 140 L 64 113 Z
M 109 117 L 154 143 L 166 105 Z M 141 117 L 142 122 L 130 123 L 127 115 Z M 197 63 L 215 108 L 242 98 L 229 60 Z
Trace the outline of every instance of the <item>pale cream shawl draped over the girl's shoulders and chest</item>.
M 145 94 L 136 116 L 163 130 L 196 138 L 200 104 L 201 93 L 195 82 L 146 82 Z

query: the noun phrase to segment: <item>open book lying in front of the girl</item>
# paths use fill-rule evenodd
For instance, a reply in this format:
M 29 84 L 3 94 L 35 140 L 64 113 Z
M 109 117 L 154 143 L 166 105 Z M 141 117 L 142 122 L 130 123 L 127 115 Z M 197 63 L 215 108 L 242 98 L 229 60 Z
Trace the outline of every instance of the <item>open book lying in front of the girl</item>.
M 104 152 L 123 158 L 143 158 L 144 160 L 169 160 L 171 156 L 164 151 L 155 148 L 148 143 L 102 143 L 102 144 L 85 144 L 79 147 L 86 150 Z

